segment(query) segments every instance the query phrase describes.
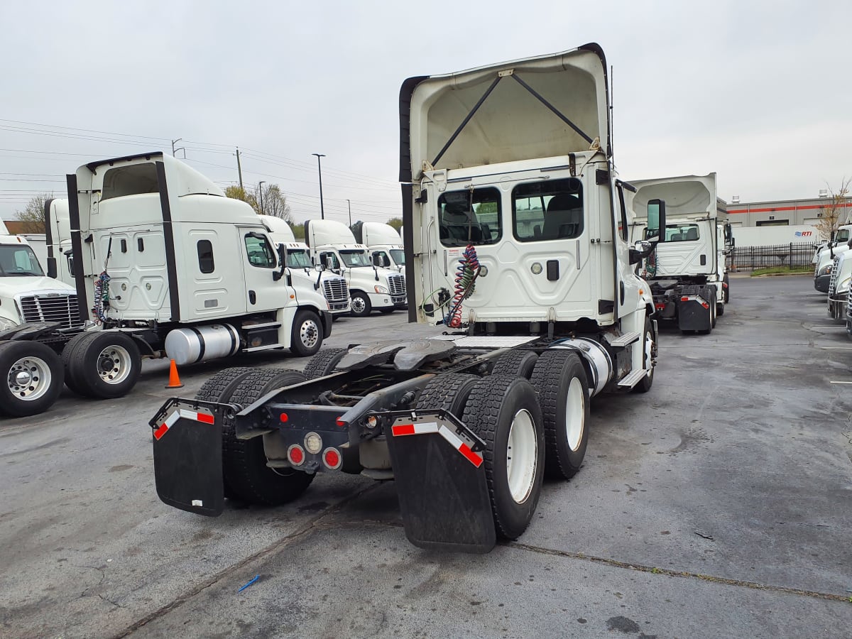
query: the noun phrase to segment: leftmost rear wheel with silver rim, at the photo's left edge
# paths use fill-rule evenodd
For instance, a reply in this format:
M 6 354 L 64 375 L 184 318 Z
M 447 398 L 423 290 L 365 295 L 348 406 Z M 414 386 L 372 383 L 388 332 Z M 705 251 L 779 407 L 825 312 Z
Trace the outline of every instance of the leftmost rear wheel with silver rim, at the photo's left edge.
M 59 398 L 65 370 L 49 346 L 26 340 L 0 343 L 0 413 L 27 417 Z

